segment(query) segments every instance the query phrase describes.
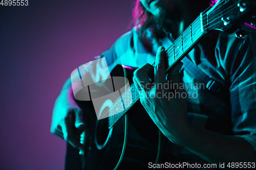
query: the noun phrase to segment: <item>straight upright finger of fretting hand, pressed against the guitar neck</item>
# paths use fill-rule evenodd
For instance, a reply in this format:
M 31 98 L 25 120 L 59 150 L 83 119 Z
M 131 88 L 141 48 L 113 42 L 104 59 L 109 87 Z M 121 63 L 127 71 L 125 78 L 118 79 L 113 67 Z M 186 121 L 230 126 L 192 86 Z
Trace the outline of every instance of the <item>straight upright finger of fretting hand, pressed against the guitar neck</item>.
M 155 63 L 155 76 L 154 81 L 156 84 L 165 83 L 165 60 L 166 54 L 163 46 L 160 46 L 157 50 L 156 63 Z

